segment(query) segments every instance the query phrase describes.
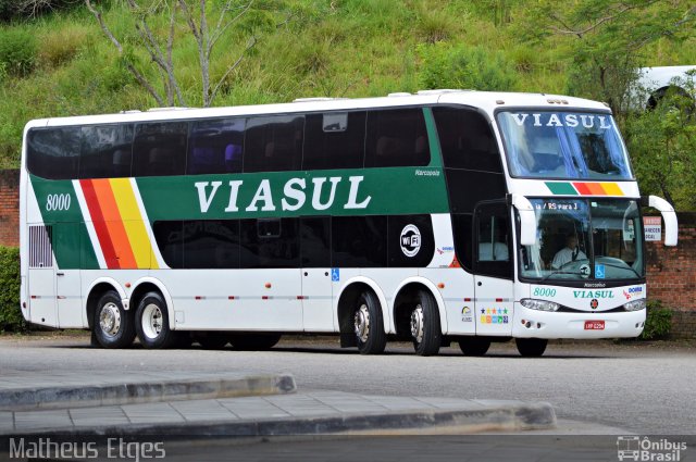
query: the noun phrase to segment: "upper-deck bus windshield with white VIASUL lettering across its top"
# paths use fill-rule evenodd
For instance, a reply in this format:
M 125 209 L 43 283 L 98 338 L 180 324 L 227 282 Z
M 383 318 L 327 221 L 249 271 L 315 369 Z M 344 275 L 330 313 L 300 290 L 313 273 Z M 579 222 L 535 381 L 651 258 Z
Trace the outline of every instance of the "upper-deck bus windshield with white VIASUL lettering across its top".
M 632 178 L 623 142 L 608 113 L 522 110 L 500 112 L 497 120 L 512 176 Z

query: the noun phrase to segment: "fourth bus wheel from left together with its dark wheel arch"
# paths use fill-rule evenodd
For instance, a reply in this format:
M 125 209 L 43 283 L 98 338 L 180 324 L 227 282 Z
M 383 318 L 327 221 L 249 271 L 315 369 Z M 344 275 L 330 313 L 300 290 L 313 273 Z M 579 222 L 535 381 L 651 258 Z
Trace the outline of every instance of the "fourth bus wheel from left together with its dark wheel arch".
M 419 355 L 434 355 L 443 342 L 442 304 L 433 290 L 412 282 L 398 291 L 394 300 L 394 324 L 399 338 L 413 341 Z

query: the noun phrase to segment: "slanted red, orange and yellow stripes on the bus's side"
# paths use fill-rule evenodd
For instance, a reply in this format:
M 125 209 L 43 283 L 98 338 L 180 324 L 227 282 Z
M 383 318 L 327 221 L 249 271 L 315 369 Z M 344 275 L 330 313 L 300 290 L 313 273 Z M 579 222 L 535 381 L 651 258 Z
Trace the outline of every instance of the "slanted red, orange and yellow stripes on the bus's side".
M 128 178 L 80 179 L 107 267 L 157 269 L 152 242 Z

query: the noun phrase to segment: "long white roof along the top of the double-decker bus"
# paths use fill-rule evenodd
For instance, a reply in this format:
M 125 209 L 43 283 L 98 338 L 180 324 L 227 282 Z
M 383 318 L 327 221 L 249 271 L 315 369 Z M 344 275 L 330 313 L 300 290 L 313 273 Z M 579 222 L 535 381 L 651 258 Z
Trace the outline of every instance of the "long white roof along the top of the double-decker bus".
M 221 108 L 154 108 L 149 111 L 123 111 L 117 114 L 80 115 L 34 120 L 26 128 L 61 125 L 90 125 L 127 122 L 158 122 L 170 120 L 208 118 L 298 112 L 349 111 L 373 108 L 398 108 L 433 104 L 463 104 L 493 113 L 497 108 L 585 109 L 607 112 L 597 101 L 546 93 L 492 92 L 473 90 L 424 90 L 418 93 L 391 93 L 377 98 L 303 98 L 296 102 L 236 105 Z

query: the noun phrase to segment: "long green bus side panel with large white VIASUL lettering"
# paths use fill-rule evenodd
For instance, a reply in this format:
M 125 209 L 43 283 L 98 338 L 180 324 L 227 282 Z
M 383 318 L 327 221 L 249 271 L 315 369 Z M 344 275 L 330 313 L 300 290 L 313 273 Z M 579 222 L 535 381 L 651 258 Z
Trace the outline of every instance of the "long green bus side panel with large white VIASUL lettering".
M 448 212 L 445 175 L 433 166 L 144 177 L 137 184 L 150 222 Z M 314 207 L 315 195 L 330 207 Z

